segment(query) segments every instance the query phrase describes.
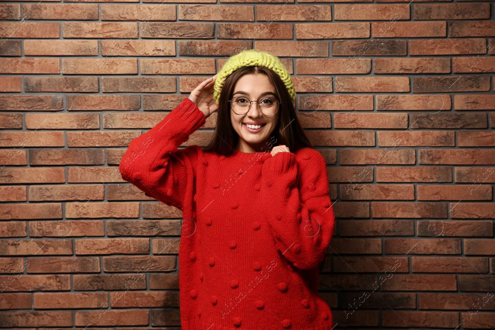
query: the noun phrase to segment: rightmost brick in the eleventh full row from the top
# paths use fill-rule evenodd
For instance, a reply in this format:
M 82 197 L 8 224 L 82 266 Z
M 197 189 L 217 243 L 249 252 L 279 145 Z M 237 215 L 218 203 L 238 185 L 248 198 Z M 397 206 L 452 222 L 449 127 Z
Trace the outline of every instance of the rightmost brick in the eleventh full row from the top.
M 418 200 L 492 200 L 490 185 L 418 185 Z

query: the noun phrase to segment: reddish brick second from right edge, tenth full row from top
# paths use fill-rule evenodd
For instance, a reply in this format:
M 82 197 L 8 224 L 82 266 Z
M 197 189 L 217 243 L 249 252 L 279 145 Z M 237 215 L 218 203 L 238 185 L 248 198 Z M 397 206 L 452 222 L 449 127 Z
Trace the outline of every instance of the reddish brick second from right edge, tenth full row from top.
M 450 167 L 377 167 L 377 182 L 452 182 Z

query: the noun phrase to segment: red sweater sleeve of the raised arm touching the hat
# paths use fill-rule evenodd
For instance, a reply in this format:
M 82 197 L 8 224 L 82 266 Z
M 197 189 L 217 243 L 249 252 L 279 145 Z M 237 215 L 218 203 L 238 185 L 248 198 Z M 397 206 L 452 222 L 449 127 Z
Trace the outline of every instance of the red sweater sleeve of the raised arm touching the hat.
M 196 176 L 201 148 L 178 147 L 205 123 L 204 114 L 189 98 L 173 109 L 147 133 L 135 138 L 122 157 L 119 170 L 122 179 L 143 190 L 149 197 L 183 209 L 189 176 Z M 184 157 L 192 164 L 187 170 Z

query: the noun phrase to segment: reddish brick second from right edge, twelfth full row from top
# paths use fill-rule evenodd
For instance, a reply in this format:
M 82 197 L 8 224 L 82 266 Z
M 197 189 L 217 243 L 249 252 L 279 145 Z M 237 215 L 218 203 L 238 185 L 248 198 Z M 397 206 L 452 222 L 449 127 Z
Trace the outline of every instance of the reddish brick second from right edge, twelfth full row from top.
M 446 203 L 371 202 L 373 218 L 446 218 Z

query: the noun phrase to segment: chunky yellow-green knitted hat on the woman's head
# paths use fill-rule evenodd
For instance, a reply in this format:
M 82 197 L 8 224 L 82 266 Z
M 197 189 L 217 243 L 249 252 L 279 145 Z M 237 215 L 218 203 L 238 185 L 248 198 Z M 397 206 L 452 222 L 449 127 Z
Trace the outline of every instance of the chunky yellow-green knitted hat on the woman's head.
M 280 62 L 278 57 L 270 55 L 266 51 L 247 49 L 241 51 L 237 55 L 229 57 L 227 62 L 222 66 L 222 69 L 218 72 L 215 85 L 213 86 L 213 98 L 215 99 L 216 104 L 219 103 L 220 93 L 222 92 L 225 79 L 237 69 L 249 65 L 266 66 L 278 74 L 284 82 L 292 102 L 296 103 L 296 91 L 294 90 L 291 75 L 287 72 L 287 69 L 284 64 Z

